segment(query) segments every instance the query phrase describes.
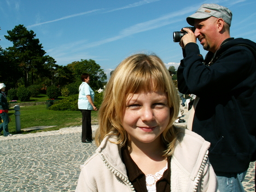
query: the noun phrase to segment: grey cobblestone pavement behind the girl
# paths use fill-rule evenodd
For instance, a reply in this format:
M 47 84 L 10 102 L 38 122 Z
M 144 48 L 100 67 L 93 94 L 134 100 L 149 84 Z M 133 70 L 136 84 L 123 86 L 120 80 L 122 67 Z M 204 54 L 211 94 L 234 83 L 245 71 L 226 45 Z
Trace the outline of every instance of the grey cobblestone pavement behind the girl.
M 80 165 L 96 149 L 80 137 L 80 126 L 0 136 L 0 191 L 74 191 Z M 246 191 L 254 191 L 254 167 L 253 162 L 243 182 Z

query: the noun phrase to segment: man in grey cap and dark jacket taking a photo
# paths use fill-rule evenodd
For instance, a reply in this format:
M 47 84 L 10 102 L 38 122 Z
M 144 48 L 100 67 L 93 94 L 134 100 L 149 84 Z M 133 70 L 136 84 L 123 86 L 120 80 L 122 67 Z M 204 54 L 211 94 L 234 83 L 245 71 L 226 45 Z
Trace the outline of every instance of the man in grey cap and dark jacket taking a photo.
M 181 32 L 184 59 L 177 72 L 179 91 L 197 96 L 188 128 L 211 142 L 220 192 L 244 191 L 256 149 L 256 44 L 230 38 L 231 19 L 231 11 L 218 4 L 203 4 L 190 15 L 194 28 Z M 205 60 L 196 39 L 208 50 Z

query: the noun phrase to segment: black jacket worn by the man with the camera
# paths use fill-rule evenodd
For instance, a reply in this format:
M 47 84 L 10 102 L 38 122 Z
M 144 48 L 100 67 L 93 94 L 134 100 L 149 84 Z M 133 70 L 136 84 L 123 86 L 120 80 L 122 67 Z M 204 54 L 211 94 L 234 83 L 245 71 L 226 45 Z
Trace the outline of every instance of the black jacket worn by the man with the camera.
M 227 39 L 203 64 L 199 47 L 189 43 L 178 68 L 179 91 L 200 97 L 193 131 L 211 142 L 210 162 L 214 171 L 243 172 L 256 149 L 256 44 L 248 39 Z

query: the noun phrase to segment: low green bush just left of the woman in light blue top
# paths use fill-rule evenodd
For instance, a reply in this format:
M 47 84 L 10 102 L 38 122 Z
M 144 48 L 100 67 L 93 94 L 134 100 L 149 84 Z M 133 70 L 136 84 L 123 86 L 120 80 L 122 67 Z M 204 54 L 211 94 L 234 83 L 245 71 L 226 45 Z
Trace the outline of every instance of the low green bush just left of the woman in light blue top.
M 78 105 L 78 95 L 72 95 L 67 98 L 63 98 L 63 100 L 55 102 L 50 110 L 79 110 Z

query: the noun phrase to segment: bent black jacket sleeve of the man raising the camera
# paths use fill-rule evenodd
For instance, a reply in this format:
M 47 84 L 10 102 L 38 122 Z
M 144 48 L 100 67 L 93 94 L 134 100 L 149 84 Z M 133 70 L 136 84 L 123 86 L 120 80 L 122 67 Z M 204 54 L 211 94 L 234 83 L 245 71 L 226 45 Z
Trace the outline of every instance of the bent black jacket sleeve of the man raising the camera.
M 203 65 L 196 43 L 188 43 L 184 55 L 177 73 L 178 88 L 199 97 L 230 92 L 254 70 L 254 56 L 245 46 L 232 46 L 212 66 Z

